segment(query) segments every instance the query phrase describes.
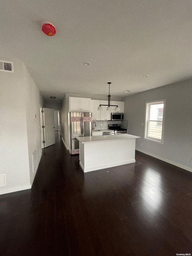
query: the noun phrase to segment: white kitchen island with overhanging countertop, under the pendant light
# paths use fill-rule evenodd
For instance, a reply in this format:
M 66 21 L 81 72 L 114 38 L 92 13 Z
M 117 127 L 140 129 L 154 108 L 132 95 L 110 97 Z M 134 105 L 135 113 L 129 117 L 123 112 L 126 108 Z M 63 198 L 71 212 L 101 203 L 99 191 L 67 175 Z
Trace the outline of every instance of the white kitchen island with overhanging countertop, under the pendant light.
M 135 162 L 135 140 L 131 134 L 78 137 L 79 164 L 84 172 Z

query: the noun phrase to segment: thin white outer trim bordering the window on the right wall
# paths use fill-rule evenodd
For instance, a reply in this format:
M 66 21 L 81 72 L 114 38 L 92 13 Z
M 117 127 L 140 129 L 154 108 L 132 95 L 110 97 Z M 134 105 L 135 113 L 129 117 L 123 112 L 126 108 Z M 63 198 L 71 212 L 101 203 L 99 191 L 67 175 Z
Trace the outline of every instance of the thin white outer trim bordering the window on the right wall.
M 147 104 L 148 103 L 161 103 L 164 102 L 164 108 L 163 108 L 163 122 L 162 122 L 162 133 L 161 133 L 161 140 L 157 140 L 157 139 L 152 139 L 152 138 L 147 138 L 145 135 L 147 134 L 147 121 L 148 121 L 148 116 L 149 116 L 149 108 L 147 109 Z M 144 135 L 143 135 L 143 139 L 144 140 L 148 140 L 151 142 L 155 142 L 155 143 L 159 143 L 159 144 L 163 144 L 164 141 L 164 125 L 165 125 L 165 107 L 166 107 L 166 99 L 163 100 L 155 100 L 155 101 L 146 101 L 145 103 L 145 126 L 144 126 Z M 147 112 L 148 110 L 148 112 Z M 147 115 L 147 118 L 146 118 Z

